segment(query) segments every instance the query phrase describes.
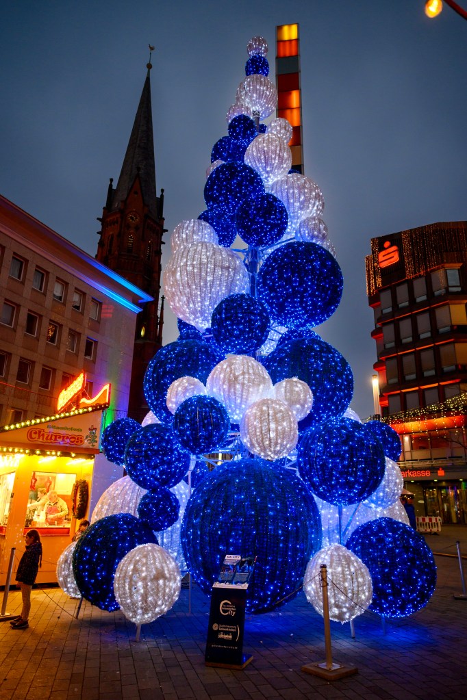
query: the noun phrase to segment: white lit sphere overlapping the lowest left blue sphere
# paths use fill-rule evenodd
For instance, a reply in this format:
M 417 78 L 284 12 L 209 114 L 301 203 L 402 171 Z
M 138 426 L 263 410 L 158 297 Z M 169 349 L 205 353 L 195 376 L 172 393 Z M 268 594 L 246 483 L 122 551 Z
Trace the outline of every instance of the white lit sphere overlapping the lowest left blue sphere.
M 164 615 L 178 600 L 179 565 L 159 545 L 134 547 L 117 566 L 113 591 L 118 605 L 134 624 L 147 624 Z

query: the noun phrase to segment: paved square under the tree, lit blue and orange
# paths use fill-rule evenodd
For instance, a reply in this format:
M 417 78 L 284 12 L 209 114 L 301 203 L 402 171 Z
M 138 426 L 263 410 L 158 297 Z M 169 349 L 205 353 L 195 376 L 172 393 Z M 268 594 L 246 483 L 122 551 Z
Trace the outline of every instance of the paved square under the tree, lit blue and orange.
M 467 554 L 467 526 L 427 535 L 434 552 Z M 436 556 L 438 586 L 424 610 L 382 627 L 371 612 L 349 624 L 331 623 L 333 660 L 358 674 L 327 682 L 301 671 L 323 661 L 323 621 L 300 593 L 267 615 L 246 619 L 243 671 L 204 666 L 209 599 L 193 586 L 165 617 L 135 627 L 121 612 L 102 612 L 60 589 L 34 589 L 29 629 L 0 622 L 0 700 L 464 700 L 467 682 L 467 601 L 456 557 Z M 467 564 L 464 563 L 467 570 Z M 467 571 L 466 571 L 467 575 Z M 189 601 L 190 598 L 190 601 Z M 189 604 L 191 610 L 189 612 Z M 8 612 L 20 610 L 11 591 Z

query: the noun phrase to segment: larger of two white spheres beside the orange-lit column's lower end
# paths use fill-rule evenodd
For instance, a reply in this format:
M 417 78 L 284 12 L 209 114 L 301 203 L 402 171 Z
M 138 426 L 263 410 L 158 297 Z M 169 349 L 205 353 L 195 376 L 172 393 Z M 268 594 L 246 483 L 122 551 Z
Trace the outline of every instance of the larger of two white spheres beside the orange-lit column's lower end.
M 292 153 L 279 136 L 258 134 L 246 148 L 244 162 L 260 174 L 267 187 L 286 176 L 291 169 Z

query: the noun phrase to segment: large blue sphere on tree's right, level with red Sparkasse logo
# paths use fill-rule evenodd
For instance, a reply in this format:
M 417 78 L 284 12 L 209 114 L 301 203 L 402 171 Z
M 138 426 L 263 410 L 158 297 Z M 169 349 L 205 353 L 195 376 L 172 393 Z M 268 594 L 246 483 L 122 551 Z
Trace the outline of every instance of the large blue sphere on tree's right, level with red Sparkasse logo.
M 325 248 L 293 241 L 273 251 L 260 267 L 258 297 L 279 325 L 319 325 L 339 306 L 342 272 Z

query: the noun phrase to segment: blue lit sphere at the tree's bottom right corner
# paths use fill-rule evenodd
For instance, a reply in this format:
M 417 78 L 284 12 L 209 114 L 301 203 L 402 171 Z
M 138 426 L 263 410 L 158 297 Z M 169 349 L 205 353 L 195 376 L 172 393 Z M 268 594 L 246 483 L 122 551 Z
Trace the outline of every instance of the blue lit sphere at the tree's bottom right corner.
M 407 617 L 428 603 L 435 590 L 436 566 L 431 549 L 414 528 L 378 518 L 356 528 L 346 546 L 370 570 L 369 610 L 383 617 Z

